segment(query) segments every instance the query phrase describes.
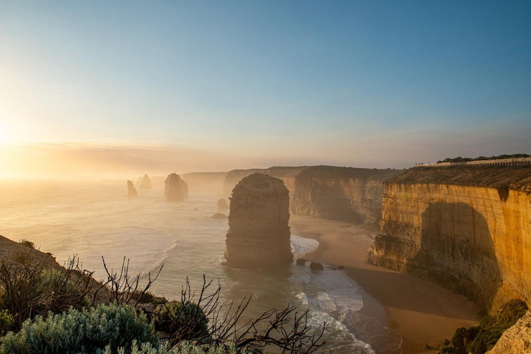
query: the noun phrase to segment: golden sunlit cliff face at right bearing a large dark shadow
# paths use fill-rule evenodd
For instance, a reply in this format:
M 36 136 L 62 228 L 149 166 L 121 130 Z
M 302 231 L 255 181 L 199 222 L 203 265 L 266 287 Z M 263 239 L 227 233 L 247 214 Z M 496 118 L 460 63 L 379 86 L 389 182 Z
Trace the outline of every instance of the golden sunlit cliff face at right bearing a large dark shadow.
M 531 168 L 411 169 L 386 181 L 367 261 L 494 311 L 531 304 Z

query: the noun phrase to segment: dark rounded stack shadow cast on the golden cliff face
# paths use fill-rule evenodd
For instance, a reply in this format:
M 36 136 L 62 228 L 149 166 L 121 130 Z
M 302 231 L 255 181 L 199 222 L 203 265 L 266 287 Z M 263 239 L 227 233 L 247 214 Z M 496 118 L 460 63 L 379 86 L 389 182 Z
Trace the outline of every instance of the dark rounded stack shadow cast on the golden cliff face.
M 435 281 L 490 310 L 502 275 L 487 220 L 467 203 L 431 203 L 407 272 Z

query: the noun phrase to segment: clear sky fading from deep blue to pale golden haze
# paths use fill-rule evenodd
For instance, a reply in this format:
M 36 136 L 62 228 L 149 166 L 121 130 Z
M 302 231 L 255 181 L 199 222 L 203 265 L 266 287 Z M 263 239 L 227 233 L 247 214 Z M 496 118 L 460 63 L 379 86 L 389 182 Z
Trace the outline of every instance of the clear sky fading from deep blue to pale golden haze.
M 0 0 L 0 177 L 531 153 L 530 18 L 531 1 Z

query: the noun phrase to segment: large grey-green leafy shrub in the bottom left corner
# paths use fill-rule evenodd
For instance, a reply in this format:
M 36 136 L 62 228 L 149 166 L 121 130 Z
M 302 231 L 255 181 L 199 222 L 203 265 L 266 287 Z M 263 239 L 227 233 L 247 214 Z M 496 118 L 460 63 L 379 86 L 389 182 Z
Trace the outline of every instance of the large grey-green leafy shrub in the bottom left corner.
M 103 351 L 117 353 L 123 347 L 131 351 L 133 340 L 156 344 L 153 326 L 132 306 L 100 305 L 90 310 L 71 308 L 59 315 L 49 313 L 35 321 L 24 322 L 19 333 L 1 338 L 1 354 L 71 353 L 91 354 Z

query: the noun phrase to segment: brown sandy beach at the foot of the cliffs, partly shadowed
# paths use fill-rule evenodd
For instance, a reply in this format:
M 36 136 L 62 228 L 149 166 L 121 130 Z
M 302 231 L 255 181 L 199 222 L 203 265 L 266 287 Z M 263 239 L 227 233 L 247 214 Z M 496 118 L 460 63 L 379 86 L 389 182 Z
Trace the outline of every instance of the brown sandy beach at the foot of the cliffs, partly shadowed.
M 291 216 L 290 227 L 292 234 L 319 241 L 319 248 L 306 259 L 346 267 L 361 287 L 362 313 L 397 331 L 404 354 L 436 353 L 456 328 L 478 323 L 478 308 L 465 297 L 430 281 L 365 263 L 378 227 L 307 216 Z M 431 349 L 425 349 L 425 344 Z

